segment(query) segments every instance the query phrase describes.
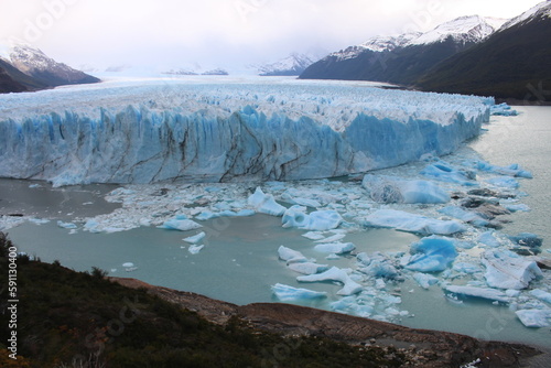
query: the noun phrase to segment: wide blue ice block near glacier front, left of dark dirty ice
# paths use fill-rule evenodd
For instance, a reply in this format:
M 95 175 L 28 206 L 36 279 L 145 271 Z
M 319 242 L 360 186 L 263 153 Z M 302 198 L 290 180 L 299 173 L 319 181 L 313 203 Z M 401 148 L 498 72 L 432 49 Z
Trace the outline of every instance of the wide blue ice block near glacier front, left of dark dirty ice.
M 447 203 L 450 195 L 428 181 L 407 181 L 391 176 L 367 174 L 361 185 L 371 199 L 379 203 Z

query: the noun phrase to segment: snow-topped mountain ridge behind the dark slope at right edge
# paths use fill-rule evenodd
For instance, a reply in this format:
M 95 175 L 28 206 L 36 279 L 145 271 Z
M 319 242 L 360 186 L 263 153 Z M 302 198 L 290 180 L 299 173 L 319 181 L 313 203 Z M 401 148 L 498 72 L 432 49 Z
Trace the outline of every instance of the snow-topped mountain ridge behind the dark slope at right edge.
M 375 36 L 329 54 L 300 77 L 409 84 L 441 61 L 482 42 L 505 22 L 505 19 L 461 17 L 424 33 Z

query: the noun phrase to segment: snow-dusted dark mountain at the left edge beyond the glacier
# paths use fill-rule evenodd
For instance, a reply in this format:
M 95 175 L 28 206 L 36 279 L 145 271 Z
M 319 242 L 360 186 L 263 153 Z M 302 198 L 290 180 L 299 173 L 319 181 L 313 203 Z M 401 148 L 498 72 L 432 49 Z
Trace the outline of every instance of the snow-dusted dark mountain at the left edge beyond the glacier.
M 29 45 L 0 45 L 0 93 L 37 90 L 63 85 L 97 83 Z

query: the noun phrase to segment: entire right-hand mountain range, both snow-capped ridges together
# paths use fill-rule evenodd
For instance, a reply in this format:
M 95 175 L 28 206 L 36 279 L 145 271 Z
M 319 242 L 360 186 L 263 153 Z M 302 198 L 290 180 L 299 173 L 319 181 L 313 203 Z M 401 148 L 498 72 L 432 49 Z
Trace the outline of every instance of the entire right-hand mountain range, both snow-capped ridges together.
M 544 1 L 511 20 L 462 17 L 425 33 L 372 37 L 329 54 L 300 78 L 541 98 L 543 87 L 551 87 L 550 40 L 551 1 Z M 551 99 L 551 90 L 549 95 Z

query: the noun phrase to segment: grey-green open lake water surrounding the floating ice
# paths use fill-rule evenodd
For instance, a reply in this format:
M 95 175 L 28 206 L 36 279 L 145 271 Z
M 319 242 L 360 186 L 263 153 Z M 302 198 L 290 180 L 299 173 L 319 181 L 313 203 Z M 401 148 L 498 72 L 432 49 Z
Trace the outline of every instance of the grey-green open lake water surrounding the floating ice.
M 542 255 L 549 257 L 551 107 L 515 109 L 520 112 L 518 117 L 491 117 L 490 123 L 484 127 L 487 131 L 452 156 L 473 154 L 474 150 L 491 164 L 519 163 L 533 173 L 534 178 L 522 180 L 520 187 L 528 194 L 521 201 L 531 212 L 510 215 L 512 221 L 505 224 L 500 232 L 534 232 L 543 238 Z M 414 163 L 381 172 L 418 172 L 422 167 L 423 164 Z M 276 283 L 327 292 L 325 300 L 304 302 L 303 305 L 329 310 L 329 303 L 338 300 L 336 292 L 339 286 L 333 283 L 298 283 L 298 274 L 278 259 L 278 248 L 282 245 L 316 258 L 318 263 L 353 268 L 356 262 L 352 256 L 325 260 L 312 249 L 312 240 L 302 237 L 305 231 L 282 228 L 281 218 L 268 215 L 202 221 L 203 230 L 209 237 L 206 247 L 197 255 L 190 253 L 188 245 L 182 239 L 199 230 L 181 232 L 140 227 L 93 234 L 82 228 L 71 231 L 57 225 L 57 220 L 72 221 L 118 208 L 119 204 L 104 201 L 104 195 L 115 188 L 116 185 L 52 188 L 42 182 L 0 180 L 0 214 L 21 213 L 51 219 L 42 225 L 24 221 L 7 231 L 20 251 L 43 261 L 60 260 L 63 266 L 78 271 L 99 267 L 110 275 L 137 278 L 237 304 L 277 302 L 270 289 Z M 390 229 L 363 229 L 347 234 L 345 241 L 354 242 L 356 252 L 407 252 L 409 245 L 419 238 Z M 126 262 L 132 262 L 134 267 L 127 270 L 122 267 Z M 400 295 L 399 309 L 409 312 L 409 316 L 398 321 L 400 324 L 486 339 L 551 346 L 549 327 L 525 327 L 508 306 L 478 300 L 455 303 L 445 297 L 441 288 L 435 285 L 423 290 L 411 279 L 387 286 Z

